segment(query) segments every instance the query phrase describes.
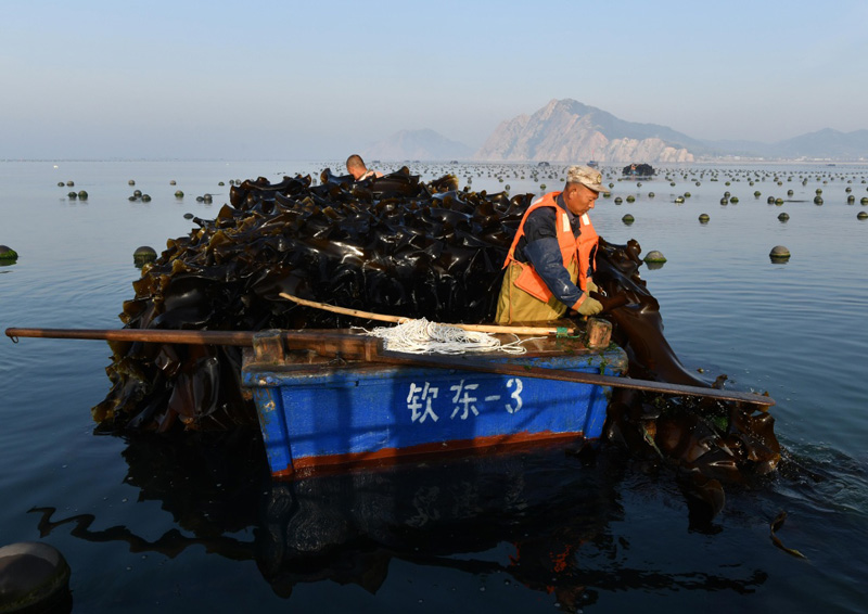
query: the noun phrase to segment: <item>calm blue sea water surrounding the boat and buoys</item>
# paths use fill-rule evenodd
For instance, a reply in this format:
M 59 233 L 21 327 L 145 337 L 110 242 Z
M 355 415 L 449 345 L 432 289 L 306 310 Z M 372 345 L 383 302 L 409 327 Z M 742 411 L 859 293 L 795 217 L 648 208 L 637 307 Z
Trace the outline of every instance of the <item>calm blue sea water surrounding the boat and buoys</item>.
M 215 216 L 230 179 L 316 177 L 326 166 L 341 168 L 2 162 L 0 244 L 21 256 L 0 267 L 0 328 L 117 328 L 138 246 L 159 252 L 187 234 L 184 213 Z M 532 179 L 533 168 L 413 171 L 452 171 L 462 186 L 471 177 L 474 190 L 509 184 L 512 194 L 562 183 L 557 172 Z M 781 471 L 727 487 L 712 525 L 691 523 L 669 471 L 616 450 L 591 464 L 540 452 L 275 486 L 256 434 L 94 435 L 89 410 L 108 389 L 104 343 L 3 337 L 0 545 L 59 548 L 73 568 L 74 611 L 89 613 L 866 611 L 868 221 L 856 214 L 868 210 L 868 167 L 695 165 L 641 186 L 615 177 L 595 226 L 610 242 L 635 238 L 668 258 L 642 277 L 682 362 L 778 402 Z M 74 188 L 58 187 L 68 180 Z M 813 203 L 818 188 L 822 206 Z M 135 189 L 152 201 L 129 202 Z M 71 200 L 71 190 L 89 197 Z M 725 191 L 739 203 L 722 205 Z M 196 203 L 206 192 L 214 204 Z M 614 203 L 629 194 L 635 203 Z M 768 205 L 768 195 L 788 202 Z M 786 264 L 769 260 L 779 244 L 792 253 Z M 805 559 L 771 542 L 781 511 L 778 536 Z

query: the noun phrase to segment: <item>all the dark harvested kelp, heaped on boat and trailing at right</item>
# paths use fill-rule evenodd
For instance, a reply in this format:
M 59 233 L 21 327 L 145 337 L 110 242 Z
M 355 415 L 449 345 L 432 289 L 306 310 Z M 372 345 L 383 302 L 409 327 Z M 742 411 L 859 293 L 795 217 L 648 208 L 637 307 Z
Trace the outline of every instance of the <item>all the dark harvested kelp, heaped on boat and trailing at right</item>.
M 290 303 L 281 292 L 436 322 L 493 319 L 503 258 L 529 194 L 459 191 L 454 176 L 425 183 L 407 168 L 362 182 L 327 169 L 312 183 L 296 176 L 232 187 L 231 204 L 216 219 L 193 218 L 197 228 L 169 241 L 142 269 L 122 320 L 133 329 L 243 331 L 365 323 Z M 639 251 L 635 242 L 603 241 L 595 273 L 610 297 L 627 297 L 608 317 L 631 374 L 709 385 L 680 364 L 663 337 L 656 300 L 638 274 Z M 112 349 L 113 388 L 93 408 L 101 428 L 228 428 L 256 420 L 241 392 L 235 347 L 116 342 Z M 611 437 L 690 471 L 730 479 L 727 459 L 740 475 L 748 466 L 770 469 L 779 458 L 770 417 L 754 417 L 752 408 L 667 402 L 675 412 L 666 413 L 637 395 L 616 396 L 612 405 Z M 676 413 L 685 418 L 673 419 Z

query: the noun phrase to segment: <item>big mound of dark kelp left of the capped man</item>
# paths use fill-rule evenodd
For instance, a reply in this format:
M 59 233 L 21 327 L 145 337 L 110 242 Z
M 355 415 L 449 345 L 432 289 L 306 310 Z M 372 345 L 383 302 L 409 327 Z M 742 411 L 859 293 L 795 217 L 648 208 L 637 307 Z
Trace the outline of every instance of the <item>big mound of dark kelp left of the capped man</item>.
M 407 168 L 353 182 L 326 170 L 231 189 L 214 220 L 193 218 L 133 283 L 120 319 L 133 329 L 241 330 L 363 324 L 280 298 L 437 322 L 494 314 L 500 267 L 529 195 L 459 192 Z M 240 351 L 113 343 L 113 388 L 93 408 L 110 430 L 227 428 L 255 421 L 242 399 Z

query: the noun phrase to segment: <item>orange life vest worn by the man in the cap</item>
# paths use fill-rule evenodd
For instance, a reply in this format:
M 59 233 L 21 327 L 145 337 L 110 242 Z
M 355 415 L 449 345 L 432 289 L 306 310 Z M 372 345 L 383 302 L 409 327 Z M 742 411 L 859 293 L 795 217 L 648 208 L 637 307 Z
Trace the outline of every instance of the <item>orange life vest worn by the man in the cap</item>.
M 599 239 L 597 231 L 593 229 L 593 225 L 590 222 L 588 214 L 584 214 L 579 218 L 579 229 L 582 230 L 582 234 L 578 236 L 573 234 L 573 229 L 570 226 L 570 216 L 565 210 L 558 206 L 558 203 L 556 203 L 556 199 L 560 194 L 560 192 L 549 192 L 548 194 L 545 194 L 544 196 L 534 201 L 531 206 L 527 207 L 527 210 L 524 212 L 524 217 L 522 217 L 522 221 L 519 225 L 519 230 L 515 232 L 515 239 L 512 240 L 512 246 L 509 248 L 507 259 L 503 263 L 503 268 L 507 268 L 510 263 L 515 263 L 519 265 L 522 268 L 522 272 L 515 280 L 515 285 L 539 300 L 542 300 L 544 303 L 551 298 L 551 291 L 529 263 L 521 263 L 515 259 L 514 255 L 515 247 L 519 245 L 519 241 L 522 236 L 524 236 L 524 222 L 527 220 L 527 216 L 531 214 L 531 212 L 539 207 L 554 208 L 556 234 L 558 236 L 558 245 L 561 248 L 563 266 L 565 269 L 570 270 L 570 265 L 576 259 L 576 256 L 578 256 L 578 280 L 576 285 L 578 285 L 583 292 L 585 292 L 585 286 L 588 279 L 588 269 L 590 268 L 591 258 L 597 248 L 597 240 Z

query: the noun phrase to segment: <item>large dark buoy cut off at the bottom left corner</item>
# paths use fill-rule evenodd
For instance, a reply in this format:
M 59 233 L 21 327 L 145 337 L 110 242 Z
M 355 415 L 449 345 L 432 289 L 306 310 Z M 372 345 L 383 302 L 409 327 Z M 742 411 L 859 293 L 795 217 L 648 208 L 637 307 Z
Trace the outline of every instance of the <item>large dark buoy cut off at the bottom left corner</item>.
M 68 602 L 69 564 L 60 550 L 38 541 L 0 548 L 0 612 L 63 612 Z

